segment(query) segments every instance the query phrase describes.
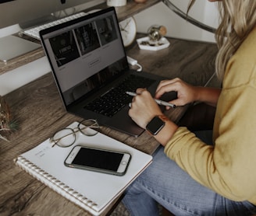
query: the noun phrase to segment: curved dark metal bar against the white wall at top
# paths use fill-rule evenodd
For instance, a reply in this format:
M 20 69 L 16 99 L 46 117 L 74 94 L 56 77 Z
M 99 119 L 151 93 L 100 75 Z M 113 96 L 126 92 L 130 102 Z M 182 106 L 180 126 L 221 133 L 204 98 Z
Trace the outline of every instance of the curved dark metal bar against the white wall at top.
M 215 33 L 216 29 L 205 25 L 204 23 L 201 23 L 199 21 L 197 21 L 196 19 L 193 19 L 191 16 L 187 16 L 186 13 L 184 13 L 182 10 L 178 9 L 176 7 L 176 5 L 173 5 L 172 2 L 170 2 L 169 0 L 162 0 L 162 2 L 169 8 L 172 10 L 172 12 L 175 12 L 178 16 L 180 16 L 183 19 L 186 19 L 187 22 L 193 24 L 194 26 L 197 26 L 203 30 L 207 30 L 208 32 L 211 33 Z

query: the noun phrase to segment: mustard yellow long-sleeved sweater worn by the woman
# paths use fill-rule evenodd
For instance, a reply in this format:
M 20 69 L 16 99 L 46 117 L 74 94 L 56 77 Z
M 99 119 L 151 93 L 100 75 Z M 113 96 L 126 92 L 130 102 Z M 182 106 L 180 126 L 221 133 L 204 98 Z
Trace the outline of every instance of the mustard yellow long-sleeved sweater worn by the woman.
M 205 145 L 180 127 L 165 154 L 223 197 L 256 204 L 256 29 L 226 67 L 213 141 Z

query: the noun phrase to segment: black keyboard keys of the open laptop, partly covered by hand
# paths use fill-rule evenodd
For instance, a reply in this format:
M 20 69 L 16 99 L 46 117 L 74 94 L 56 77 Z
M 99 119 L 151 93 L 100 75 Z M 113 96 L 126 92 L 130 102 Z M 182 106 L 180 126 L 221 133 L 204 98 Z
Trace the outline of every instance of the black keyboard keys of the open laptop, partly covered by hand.
M 126 94 L 127 91 L 135 92 L 137 88 L 147 88 L 155 80 L 137 75 L 129 75 L 122 83 L 111 89 L 101 97 L 94 99 L 85 109 L 112 117 L 124 106 L 131 102 L 132 97 Z

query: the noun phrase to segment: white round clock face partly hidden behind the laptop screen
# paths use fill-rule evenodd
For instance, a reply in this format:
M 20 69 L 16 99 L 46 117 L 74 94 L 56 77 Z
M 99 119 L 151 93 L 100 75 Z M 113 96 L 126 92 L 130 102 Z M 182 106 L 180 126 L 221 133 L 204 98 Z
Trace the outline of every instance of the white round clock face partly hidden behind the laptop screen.
M 133 43 L 136 37 L 137 30 L 135 20 L 133 17 L 125 19 L 119 23 L 119 27 L 123 38 L 123 45 L 127 47 Z

